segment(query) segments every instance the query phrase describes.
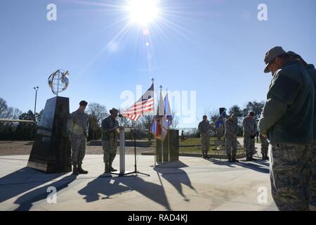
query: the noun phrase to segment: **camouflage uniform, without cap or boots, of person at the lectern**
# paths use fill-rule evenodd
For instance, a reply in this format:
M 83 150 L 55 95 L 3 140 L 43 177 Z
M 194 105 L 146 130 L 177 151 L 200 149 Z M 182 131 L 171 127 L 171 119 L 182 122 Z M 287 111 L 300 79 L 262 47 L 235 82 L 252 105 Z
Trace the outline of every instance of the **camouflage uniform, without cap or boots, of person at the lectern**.
M 103 147 L 103 160 L 105 164 L 112 165 L 112 162 L 117 155 L 117 142 L 119 134 L 113 129 L 119 127 L 117 120 L 113 120 L 112 116 L 105 118 L 102 122 L 102 147 Z

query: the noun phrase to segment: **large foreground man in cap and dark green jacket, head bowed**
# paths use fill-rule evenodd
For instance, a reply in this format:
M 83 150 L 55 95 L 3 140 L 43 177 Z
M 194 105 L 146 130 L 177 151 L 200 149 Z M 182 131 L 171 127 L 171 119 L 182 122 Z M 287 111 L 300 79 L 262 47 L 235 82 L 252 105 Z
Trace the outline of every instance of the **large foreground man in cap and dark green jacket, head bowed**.
M 272 145 L 272 197 L 279 210 L 308 210 L 314 84 L 282 47 L 268 51 L 265 64 L 265 72 L 273 77 L 258 127 Z

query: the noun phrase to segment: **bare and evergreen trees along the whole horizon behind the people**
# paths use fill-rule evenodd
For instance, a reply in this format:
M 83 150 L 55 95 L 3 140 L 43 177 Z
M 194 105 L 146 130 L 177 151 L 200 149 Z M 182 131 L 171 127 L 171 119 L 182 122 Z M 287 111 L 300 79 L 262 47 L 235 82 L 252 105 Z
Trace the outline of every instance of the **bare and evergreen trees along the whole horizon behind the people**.
M 264 101 L 249 101 L 246 107 L 243 109 L 239 105 L 232 105 L 227 111 L 228 115 L 232 113 L 237 114 L 237 130 L 238 136 L 242 136 L 242 120 L 248 113 L 254 112 L 256 114 L 256 119 L 260 118 L 261 112 L 263 110 Z M 18 108 L 9 107 L 4 100 L 0 98 L 0 118 L 1 119 L 13 119 L 13 120 L 35 120 L 35 123 L 23 123 L 23 122 L 0 122 L 0 140 L 1 141 L 32 141 L 35 138 L 37 131 L 37 126 L 41 121 L 41 115 L 44 110 L 39 111 L 34 115 L 32 110 L 28 110 L 26 113 L 22 113 Z M 89 130 L 88 130 L 88 140 L 98 140 L 102 136 L 101 123 L 109 115 L 105 105 L 100 105 L 99 103 L 89 103 L 86 109 L 86 113 L 89 115 Z M 206 110 L 205 115 L 208 115 L 209 120 L 212 124 L 215 124 L 216 120 L 220 116 L 218 110 Z M 176 116 L 176 112 L 172 112 L 173 124 L 171 129 L 177 129 L 179 125 L 179 118 Z M 34 118 L 35 117 L 35 118 Z M 152 125 L 153 115 L 143 115 L 140 120 L 133 122 L 131 120 L 118 119 L 120 125 L 126 127 L 134 127 L 136 129 L 136 134 L 141 139 L 148 139 L 152 141 L 154 136 L 150 133 L 150 127 Z M 211 135 L 218 136 L 222 135 L 220 129 L 215 129 L 212 126 Z M 193 129 L 190 131 L 190 136 L 199 137 L 198 129 Z M 131 131 L 126 131 L 126 139 L 133 139 L 133 134 Z

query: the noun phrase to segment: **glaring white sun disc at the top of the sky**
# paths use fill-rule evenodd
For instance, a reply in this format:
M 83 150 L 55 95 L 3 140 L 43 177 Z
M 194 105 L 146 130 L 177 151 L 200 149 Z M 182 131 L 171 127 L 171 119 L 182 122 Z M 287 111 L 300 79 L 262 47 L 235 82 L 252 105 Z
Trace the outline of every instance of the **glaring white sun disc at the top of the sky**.
M 159 15 L 157 0 L 129 0 L 126 9 L 130 13 L 131 23 L 142 26 L 154 22 Z

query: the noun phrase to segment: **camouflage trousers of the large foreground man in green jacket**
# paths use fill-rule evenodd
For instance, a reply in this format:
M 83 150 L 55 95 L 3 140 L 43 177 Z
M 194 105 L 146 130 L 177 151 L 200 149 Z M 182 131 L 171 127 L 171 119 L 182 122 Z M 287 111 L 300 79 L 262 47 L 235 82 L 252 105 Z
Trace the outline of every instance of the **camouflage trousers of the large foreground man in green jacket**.
M 272 144 L 271 191 L 279 210 L 308 210 L 309 191 L 306 184 L 310 179 L 310 164 L 310 146 Z

